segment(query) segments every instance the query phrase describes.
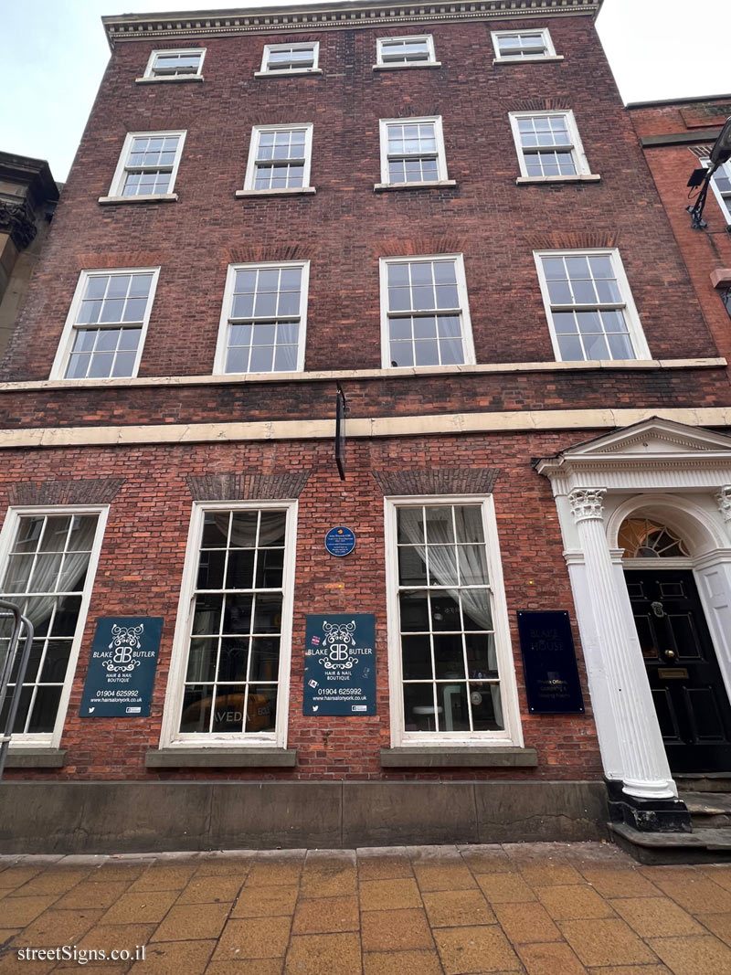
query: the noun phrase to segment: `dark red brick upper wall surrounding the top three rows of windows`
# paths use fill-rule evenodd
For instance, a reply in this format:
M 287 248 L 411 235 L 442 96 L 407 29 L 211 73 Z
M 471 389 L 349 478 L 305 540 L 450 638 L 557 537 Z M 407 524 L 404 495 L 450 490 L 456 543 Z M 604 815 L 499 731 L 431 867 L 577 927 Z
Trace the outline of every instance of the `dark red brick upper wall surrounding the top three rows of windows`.
M 620 248 L 653 356 L 714 355 L 591 19 L 530 22 L 549 24 L 563 61 L 492 65 L 490 29 L 524 19 L 308 34 L 316 78 L 253 77 L 264 43 L 299 34 L 191 38 L 181 46 L 208 48 L 202 84 L 135 85 L 153 44 L 119 44 L 4 375 L 48 376 L 81 268 L 148 264 L 162 271 L 140 374 L 210 372 L 227 264 L 293 255 L 311 260 L 308 370 L 380 365 L 379 256 L 452 251 L 465 254 L 478 362 L 551 361 L 531 252 L 592 244 Z M 377 36 L 424 29 L 442 68 L 372 71 Z M 516 185 L 508 112 L 530 105 L 573 109 L 601 182 Z M 378 120 L 401 114 L 442 114 L 456 187 L 373 193 Z M 251 126 L 284 122 L 314 123 L 317 195 L 236 200 Z M 96 202 L 128 131 L 178 128 L 178 203 Z

